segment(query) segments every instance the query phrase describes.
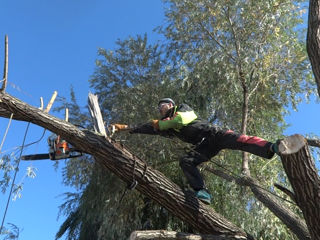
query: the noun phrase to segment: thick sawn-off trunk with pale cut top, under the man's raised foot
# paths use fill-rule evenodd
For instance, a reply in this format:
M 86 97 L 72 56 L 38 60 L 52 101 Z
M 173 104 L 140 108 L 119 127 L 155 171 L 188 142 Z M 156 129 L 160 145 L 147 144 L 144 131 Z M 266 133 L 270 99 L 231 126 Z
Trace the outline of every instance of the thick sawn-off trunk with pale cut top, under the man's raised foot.
M 320 178 L 306 139 L 293 135 L 281 141 L 280 156 L 312 239 L 320 239 Z

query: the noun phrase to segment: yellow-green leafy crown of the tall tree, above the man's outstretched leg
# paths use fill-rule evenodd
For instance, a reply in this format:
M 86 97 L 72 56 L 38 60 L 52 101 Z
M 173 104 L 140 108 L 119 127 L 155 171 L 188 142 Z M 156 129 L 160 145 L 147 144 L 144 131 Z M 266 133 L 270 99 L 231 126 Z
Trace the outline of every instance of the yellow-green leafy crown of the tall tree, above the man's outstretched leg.
M 209 117 L 215 109 L 223 124 L 240 129 L 244 84 L 251 118 L 264 119 L 268 109 L 276 126 L 283 106 L 314 90 L 303 29 L 296 28 L 300 9 L 291 1 L 166 2 L 168 24 L 159 31 L 170 39 L 170 56 L 179 59 L 188 98 Z

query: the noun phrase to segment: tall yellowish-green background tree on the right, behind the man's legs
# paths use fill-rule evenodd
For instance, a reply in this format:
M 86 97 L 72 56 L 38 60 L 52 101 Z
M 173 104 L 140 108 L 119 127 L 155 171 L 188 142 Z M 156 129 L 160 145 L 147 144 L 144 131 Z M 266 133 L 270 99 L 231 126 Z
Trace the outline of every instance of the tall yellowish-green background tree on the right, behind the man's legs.
M 223 127 L 270 140 L 281 137 L 286 107 L 295 108 L 301 101 L 299 94 L 308 97 L 314 91 L 304 30 L 297 28 L 302 23 L 304 9 L 290 1 L 167 3 L 170 5 L 166 12 L 168 22 L 160 32 L 170 39 L 168 53 L 185 73 L 180 82 L 188 93 L 186 97 L 193 98 L 196 108 L 203 109 L 201 113 L 208 119 L 218 113 L 217 122 Z M 285 182 L 277 161 L 265 162 L 252 156 L 248 159 L 244 154 L 241 169 L 239 157 L 232 152 L 215 159 L 236 174 L 243 172 L 258 178 L 264 186 L 272 185 L 279 177 Z M 259 213 L 267 211 L 259 203 L 259 211 L 255 211 L 256 200 L 249 193 L 243 194 L 235 188 L 218 192 L 221 185 L 227 184 L 228 190 L 231 187 L 229 183 L 219 182 L 217 179 L 213 183 L 214 193 L 221 200 L 228 200 L 214 201 L 218 205 L 215 209 L 221 209 L 224 216 L 239 225 L 262 223 L 257 236 L 264 239 L 268 236 L 263 229 L 279 231 L 281 225 L 272 215 L 263 221 L 265 214 Z M 253 203 L 251 217 L 248 203 Z M 235 216 L 231 206 L 237 206 L 240 214 Z

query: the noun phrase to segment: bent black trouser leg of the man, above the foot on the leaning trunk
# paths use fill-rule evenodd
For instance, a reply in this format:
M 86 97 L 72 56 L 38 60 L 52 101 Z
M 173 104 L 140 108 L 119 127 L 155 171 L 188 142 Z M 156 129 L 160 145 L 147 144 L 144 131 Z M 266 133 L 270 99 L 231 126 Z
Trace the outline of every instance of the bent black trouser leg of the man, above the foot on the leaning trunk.
M 195 151 L 189 152 L 180 159 L 180 167 L 187 178 L 188 183 L 195 191 L 205 188 L 203 178 L 197 166 L 208 160 L 208 158 Z

